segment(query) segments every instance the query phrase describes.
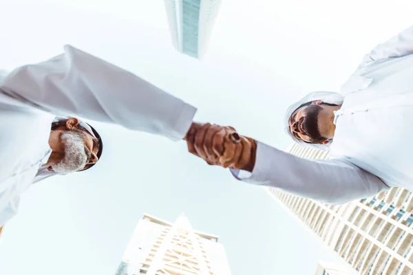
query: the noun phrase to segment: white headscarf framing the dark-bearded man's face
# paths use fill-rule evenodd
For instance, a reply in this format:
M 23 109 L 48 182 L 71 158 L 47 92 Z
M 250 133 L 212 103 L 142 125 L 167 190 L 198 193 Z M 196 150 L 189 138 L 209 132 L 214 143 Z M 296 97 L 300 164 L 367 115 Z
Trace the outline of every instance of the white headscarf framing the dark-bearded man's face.
M 304 96 L 301 100 L 295 102 L 290 107 L 288 107 L 286 111 L 286 115 L 284 117 L 284 130 L 286 131 L 287 135 L 289 135 L 295 142 L 302 146 L 308 146 L 312 148 L 317 148 L 319 150 L 328 151 L 330 148 L 330 143 L 328 144 L 310 144 L 304 142 L 302 140 L 297 140 L 295 136 L 290 132 L 290 124 L 288 121 L 290 120 L 291 115 L 297 110 L 302 104 L 314 101 L 314 100 L 321 100 L 322 102 L 326 102 L 329 104 L 342 104 L 344 97 L 341 94 L 334 93 L 332 91 L 313 91 L 312 93 Z

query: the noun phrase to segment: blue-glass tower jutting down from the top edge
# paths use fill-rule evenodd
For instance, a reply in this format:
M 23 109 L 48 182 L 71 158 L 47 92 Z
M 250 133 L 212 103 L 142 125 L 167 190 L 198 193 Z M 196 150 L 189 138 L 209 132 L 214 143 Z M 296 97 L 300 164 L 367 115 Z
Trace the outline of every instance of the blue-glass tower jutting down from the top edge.
M 220 4 L 221 0 L 165 0 L 172 45 L 178 52 L 204 56 Z

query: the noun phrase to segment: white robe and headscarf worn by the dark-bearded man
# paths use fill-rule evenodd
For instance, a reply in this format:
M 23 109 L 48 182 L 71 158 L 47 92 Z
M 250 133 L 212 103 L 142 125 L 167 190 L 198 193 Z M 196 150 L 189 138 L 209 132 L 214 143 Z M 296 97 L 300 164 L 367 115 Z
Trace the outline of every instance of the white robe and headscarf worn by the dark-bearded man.
M 233 170 L 233 174 L 251 184 L 335 204 L 393 186 L 413 190 L 412 76 L 413 26 L 366 54 L 341 94 L 316 92 L 288 109 L 286 127 L 302 103 L 342 102 L 335 111 L 330 144 L 306 144 L 293 138 L 301 145 L 330 151 L 330 159 L 303 159 L 257 142 L 253 172 Z

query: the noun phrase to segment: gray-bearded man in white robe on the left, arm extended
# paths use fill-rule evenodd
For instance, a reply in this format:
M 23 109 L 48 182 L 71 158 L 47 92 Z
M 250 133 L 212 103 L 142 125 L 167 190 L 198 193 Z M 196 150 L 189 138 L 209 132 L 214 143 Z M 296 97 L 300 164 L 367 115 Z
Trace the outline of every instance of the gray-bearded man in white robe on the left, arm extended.
M 0 74 L 0 228 L 34 182 L 90 168 L 97 131 L 72 115 L 182 140 L 196 109 L 71 46 L 43 63 Z M 195 127 L 195 128 L 194 128 Z

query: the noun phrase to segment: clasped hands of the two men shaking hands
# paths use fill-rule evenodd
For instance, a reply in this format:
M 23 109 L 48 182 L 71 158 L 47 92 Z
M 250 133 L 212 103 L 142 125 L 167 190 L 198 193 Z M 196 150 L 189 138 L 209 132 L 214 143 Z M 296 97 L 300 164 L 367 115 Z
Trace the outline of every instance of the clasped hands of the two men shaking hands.
M 257 145 L 231 126 L 193 122 L 187 135 L 188 151 L 209 165 L 253 171 Z

